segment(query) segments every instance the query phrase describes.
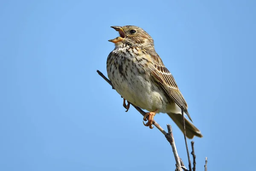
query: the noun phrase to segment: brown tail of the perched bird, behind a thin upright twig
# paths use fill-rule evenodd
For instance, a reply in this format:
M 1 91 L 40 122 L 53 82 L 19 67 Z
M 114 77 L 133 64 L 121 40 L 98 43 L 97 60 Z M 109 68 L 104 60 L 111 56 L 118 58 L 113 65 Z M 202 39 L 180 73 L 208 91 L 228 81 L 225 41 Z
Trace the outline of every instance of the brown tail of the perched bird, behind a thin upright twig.
M 180 130 L 184 133 L 183 129 L 183 116 L 181 114 L 175 113 L 167 113 L 175 124 L 180 128 Z M 186 137 L 192 139 L 194 136 L 203 137 L 200 130 L 196 128 L 188 119 L 185 119 L 185 129 L 186 129 Z

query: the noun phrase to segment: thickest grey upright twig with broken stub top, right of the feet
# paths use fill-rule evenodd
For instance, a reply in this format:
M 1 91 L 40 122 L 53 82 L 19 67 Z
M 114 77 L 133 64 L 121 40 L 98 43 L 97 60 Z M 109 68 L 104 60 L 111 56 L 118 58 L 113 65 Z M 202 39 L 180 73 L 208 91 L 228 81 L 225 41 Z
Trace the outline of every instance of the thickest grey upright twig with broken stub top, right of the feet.
M 170 145 L 172 146 L 172 152 L 174 154 L 174 158 L 176 161 L 176 169 L 175 171 L 182 171 L 181 169 L 181 163 L 180 163 L 180 157 L 178 155 L 176 146 L 175 146 L 175 141 L 172 135 L 172 126 L 167 124 L 167 129 L 168 129 L 168 133 L 166 134 L 166 139 L 167 141 L 170 143 Z

